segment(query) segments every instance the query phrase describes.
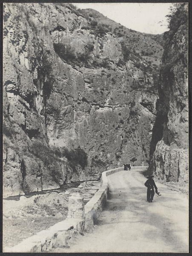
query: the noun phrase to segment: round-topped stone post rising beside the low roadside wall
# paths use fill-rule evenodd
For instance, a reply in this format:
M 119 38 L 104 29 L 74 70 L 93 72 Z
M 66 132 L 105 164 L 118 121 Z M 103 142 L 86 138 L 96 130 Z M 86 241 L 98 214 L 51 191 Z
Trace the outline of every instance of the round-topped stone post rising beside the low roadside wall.
M 83 198 L 79 193 L 73 193 L 69 197 L 67 218 L 85 218 Z

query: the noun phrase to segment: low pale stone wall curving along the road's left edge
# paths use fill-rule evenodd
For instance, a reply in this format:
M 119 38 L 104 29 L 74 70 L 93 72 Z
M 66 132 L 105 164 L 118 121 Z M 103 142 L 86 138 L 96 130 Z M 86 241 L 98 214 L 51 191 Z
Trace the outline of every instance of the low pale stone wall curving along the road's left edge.
M 132 170 L 147 170 L 148 166 L 132 166 Z M 83 230 L 90 230 L 97 224 L 97 219 L 103 210 L 103 206 L 107 201 L 107 193 L 109 189 L 109 183 L 107 176 L 116 172 L 123 171 L 123 167 L 108 170 L 102 173 L 100 189 L 95 193 L 92 199 L 83 208 L 82 214 L 74 214 L 72 212 L 79 212 L 81 208 L 82 199 L 78 198 L 78 195 L 73 195 L 69 199 L 70 207 L 75 202 L 74 198 L 77 197 L 77 205 L 74 209 L 70 209 L 67 218 L 64 221 L 60 221 L 57 224 L 49 227 L 47 230 L 42 230 L 36 235 L 31 236 L 21 243 L 11 248 L 3 248 L 3 252 L 49 252 L 52 248 L 68 247 L 69 240 L 72 236 L 78 233 L 82 233 Z M 76 216 L 77 218 L 74 218 Z

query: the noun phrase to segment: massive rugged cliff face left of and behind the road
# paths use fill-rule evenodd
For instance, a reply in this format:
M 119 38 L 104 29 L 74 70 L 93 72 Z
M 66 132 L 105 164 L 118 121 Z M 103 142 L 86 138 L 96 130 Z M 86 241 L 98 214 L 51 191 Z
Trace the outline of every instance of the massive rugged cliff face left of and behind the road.
M 152 73 L 125 58 L 107 26 L 90 20 L 95 30 L 70 4 L 4 4 L 4 196 L 149 160 Z M 186 93 L 180 84 L 175 97 Z M 183 104 L 172 96 L 172 108 L 182 109 L 178 128 L 186 125 Z

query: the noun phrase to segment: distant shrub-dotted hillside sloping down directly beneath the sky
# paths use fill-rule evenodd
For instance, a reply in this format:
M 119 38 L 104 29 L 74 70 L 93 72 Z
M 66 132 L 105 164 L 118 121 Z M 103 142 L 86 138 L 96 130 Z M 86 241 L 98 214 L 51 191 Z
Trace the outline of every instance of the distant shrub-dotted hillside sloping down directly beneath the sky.
M 109 26 L 110 31 L 120 38 L 121 44 L 129 52 L 129 58 L 140 61 L 150 71 L 159 67 L 163 55 L 163 34 L 151 35 L 128 29 L 93 9 L 83 9 L 80 12 L 89 20 L 91 26 L 95 20 L 97 25 Z

